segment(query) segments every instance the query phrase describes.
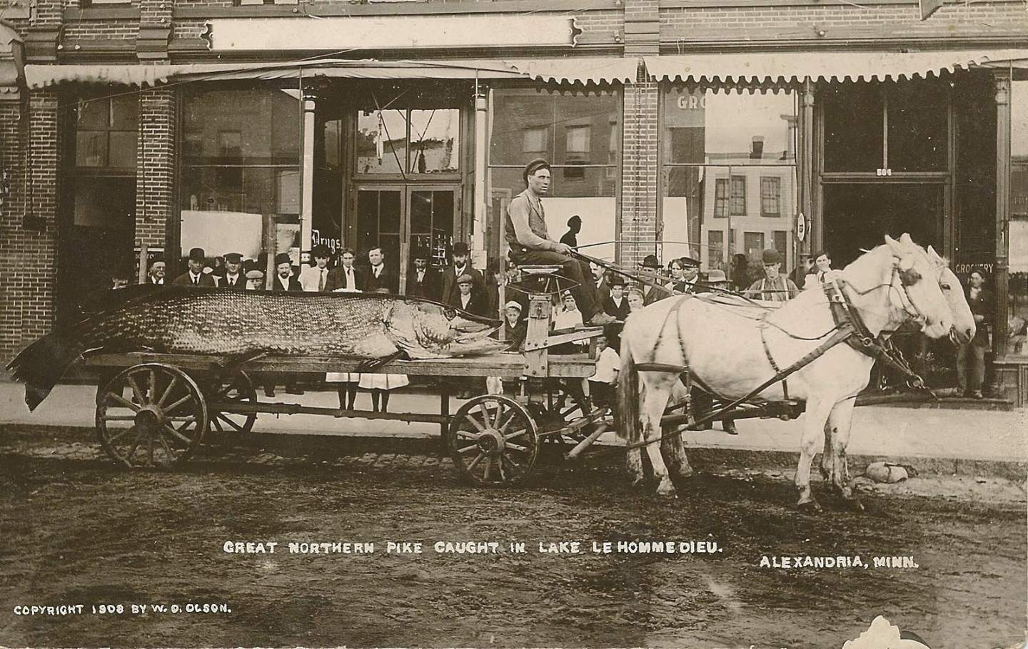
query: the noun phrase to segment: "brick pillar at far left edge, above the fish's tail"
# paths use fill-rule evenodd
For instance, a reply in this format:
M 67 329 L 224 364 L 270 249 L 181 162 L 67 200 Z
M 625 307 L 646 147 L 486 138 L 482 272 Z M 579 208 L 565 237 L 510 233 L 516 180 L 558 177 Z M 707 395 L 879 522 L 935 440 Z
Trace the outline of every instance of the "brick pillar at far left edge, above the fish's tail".
M 58 96 L 0 103 L 0 151 L 10 194 L 0 216 L 0 358 L 9 360 L 53 324 L 57 277 Z

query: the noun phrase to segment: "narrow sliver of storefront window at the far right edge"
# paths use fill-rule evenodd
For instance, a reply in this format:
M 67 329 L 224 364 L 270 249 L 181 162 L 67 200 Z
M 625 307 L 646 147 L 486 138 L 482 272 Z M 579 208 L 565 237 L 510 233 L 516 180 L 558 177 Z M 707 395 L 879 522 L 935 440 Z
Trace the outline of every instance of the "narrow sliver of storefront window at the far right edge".
M 1028 78 L 1011 83 L 1011 220 L 1007 353 L 1028 355 Z

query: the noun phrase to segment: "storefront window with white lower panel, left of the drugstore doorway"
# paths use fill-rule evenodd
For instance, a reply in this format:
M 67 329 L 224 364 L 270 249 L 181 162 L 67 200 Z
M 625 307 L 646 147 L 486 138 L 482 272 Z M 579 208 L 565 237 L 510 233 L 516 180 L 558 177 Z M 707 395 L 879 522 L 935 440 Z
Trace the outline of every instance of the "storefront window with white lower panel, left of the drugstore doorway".
M 265 227 L 276 251 L 300 253 L 300 107 L 295 88 L 261 85 L 186 96 L 183 251 L 257 259 Z M 270 234 L 270 233 L 269 233 Z

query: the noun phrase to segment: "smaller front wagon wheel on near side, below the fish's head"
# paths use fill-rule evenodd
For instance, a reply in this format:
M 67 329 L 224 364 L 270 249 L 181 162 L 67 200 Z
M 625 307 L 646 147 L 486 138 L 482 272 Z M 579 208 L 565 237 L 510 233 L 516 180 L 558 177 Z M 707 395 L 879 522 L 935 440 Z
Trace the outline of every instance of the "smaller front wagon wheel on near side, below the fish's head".
M 476 485 L 516 485 L 539 456 L 536 421 L 520 404 L 495 394 L 468 400 L 450 419 L 446 448 L 462 475 Z

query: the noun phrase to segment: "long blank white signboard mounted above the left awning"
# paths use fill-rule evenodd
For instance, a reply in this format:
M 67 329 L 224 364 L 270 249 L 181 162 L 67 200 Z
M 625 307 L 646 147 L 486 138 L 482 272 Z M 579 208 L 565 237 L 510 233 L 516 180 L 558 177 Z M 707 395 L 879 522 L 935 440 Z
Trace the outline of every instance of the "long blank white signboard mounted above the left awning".
M 552 47 L 576 44 L 574 17 L 391 15 L 208 22 L 212 51 Z

